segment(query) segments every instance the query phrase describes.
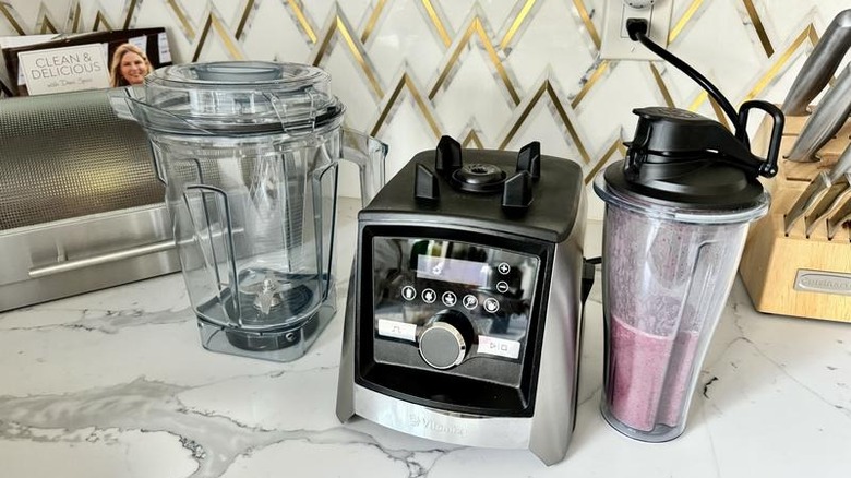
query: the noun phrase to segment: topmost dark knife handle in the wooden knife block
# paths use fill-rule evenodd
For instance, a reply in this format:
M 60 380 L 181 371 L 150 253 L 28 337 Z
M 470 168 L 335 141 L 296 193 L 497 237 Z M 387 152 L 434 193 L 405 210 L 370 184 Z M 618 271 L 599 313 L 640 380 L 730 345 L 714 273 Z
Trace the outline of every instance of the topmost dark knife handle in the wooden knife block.
M 837 14 L 822 34 L 813 52 L 783 100 L 783 112 L 806 113 L 810 101 L 825 87 L 851 46 L 851 9 Z

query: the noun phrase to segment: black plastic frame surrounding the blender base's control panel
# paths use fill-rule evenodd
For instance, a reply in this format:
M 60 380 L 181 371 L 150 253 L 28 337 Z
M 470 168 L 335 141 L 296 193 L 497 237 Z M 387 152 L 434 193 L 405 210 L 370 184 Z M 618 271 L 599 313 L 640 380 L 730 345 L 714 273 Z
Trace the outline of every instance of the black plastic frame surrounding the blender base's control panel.
M 375 237 L 456 240 L 536 255 L 540 260 L 529 316 L 527 346 L 517 389 L 459 377 L 450 370 L 418 370 L 374 361 L 372 239 Z M 405 402 L 442 410 L 501 417 L 531 417 L 535 410 L 547 302 L 555 244 L 469 228 L 361 223 L 360 285 L 355 331 L 355 383 Z

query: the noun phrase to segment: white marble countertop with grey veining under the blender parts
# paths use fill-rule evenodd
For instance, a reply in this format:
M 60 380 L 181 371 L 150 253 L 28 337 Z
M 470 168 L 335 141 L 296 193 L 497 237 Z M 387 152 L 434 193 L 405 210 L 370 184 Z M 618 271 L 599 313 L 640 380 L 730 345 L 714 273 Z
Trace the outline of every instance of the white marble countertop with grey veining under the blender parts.
M 353 253 L 344 202 L 337 277 Z M 589 236 L 599 235 L 589 227 Z M 599 243 L 599 236 L 587 242 Z M 587 255 L 591 255 L 587 253 Z M 346 284 L 338 284 L 340 306 Z M 340 307 L 343 310 L 343 307 Z M 576 431 L 562 463 L 408 437 L 335 414 L 341 312 L 274 363 L 199 342 L 172 274 L 0 314 L 3 477 L 847 477 L 851 324 L 765 315 L 736 282 L 685 433 L 627 439 L 599 413 L 599 277 L 586 310 Z

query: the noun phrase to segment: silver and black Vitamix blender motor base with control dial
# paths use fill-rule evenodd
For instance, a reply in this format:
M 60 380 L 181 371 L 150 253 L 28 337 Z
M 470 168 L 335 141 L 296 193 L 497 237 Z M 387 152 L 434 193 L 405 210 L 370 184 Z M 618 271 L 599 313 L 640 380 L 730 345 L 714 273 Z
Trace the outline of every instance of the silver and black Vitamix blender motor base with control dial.
M 444 136 L 361 211 L 340 420 L 565 456 L 586 205 L 579 166 L 539 148 L 462 151 Z

